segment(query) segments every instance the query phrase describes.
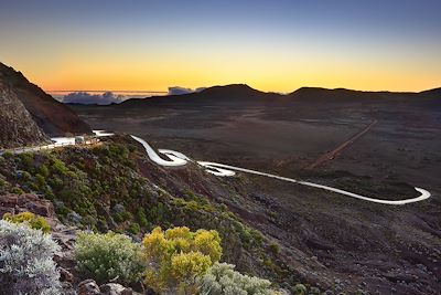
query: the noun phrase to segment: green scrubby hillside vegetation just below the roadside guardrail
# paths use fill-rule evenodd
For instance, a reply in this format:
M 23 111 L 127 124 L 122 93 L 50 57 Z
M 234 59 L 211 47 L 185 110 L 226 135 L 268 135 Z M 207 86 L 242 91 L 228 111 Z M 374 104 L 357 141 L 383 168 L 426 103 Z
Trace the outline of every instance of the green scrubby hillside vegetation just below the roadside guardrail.
M 127 143 L 3 155 L 0 193 L 36 193 L 53 201 L 63 223 L 95 232 L 111 230 L 139 239 L 155 226 L 204 228 L 223 238 L 227 260 L 240 249 L 262 249 L 261 234 L 225 206 L 192 191 L 172 196 L 139 173 L 138 159 Z

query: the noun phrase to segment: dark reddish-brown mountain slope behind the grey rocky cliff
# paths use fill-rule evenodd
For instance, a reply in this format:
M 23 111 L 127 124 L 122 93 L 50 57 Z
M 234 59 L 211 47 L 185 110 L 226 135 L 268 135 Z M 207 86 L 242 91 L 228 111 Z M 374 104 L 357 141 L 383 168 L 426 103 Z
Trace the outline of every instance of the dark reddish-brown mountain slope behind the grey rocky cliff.
M 30 83 L 20 72 L 0 63 L 0 82 L 13 88 L 36 125 L 47 135 L 92 133 L 90 127 L 72 109 Z

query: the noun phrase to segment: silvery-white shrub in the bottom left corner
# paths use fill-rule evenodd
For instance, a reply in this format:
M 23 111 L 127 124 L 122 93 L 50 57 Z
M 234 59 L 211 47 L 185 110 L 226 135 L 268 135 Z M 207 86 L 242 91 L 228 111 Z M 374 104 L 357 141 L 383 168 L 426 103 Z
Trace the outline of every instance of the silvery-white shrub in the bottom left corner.
M 61 294 L 50 234 L 0 220 L 0 294 Z

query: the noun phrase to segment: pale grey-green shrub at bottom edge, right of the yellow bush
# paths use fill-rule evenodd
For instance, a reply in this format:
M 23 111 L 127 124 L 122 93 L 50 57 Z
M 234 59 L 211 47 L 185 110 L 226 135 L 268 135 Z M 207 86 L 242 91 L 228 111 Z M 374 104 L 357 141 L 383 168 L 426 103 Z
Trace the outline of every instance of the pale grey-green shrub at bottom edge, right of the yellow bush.
M 215 263 L 208 272 L 200 278 L 202 295 L 276 295 L 279 292 L 271 289 L 271 282 L 256 276 L 236 272 L 235 265 Z

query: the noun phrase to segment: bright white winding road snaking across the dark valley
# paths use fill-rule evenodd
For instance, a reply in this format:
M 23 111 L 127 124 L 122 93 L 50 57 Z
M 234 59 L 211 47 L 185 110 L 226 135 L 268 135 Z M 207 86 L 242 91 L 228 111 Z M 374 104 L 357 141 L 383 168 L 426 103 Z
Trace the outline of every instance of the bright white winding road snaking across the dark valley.
M 359 200 L 364 200 L 364 201 L 368 201 L 368 202 L 381 203 L 381 204 L 415 203 L 415 202 L 426 200 L 426 199 L 430 198 L 430 196 L 431 196 L 429 191 L 427 191 L 422 188 L 416 187 L 415 190 L 420 193 L 420 196 L 418 196 L 416 198 L 405 199 L 405 200 L 375 199 L 375 198 L 369 198 L 369 197 L 365 197 L 362 194 L 357 194 L 354 192 L 341 190 L 337 188 L 333 188 L 333 187 L 327 187 L 327 186 L 323 186 L 323 185 L 319 185 L 319 183 L 314 183 L 314 182 L 301 181 L 301 180 L 297 180 L 297 179 L 292 179 L 292 178 L 288 178 L 288 177 L 281 177 L 281 176 L 271 175 L 271 173 L 265 173 L 265 172 L 246 169 L 246 168 L 240 168 L 240 167 L 236 167 L 236 166 L 218 164 L 218 162 L 211 162 L 211 161 L 193 161 L 192 159 L 190 159 L 182 152 L 170 150 L 170 149 L 158 149 L 158 151 L 160 154 L 162 154 L 163 156 L 169 158 L 168 160 L 164 160 L 142 138 L 133 136 L 133 135 L 131 135 L 131 138 L 133 138 L 138 143 L 140 143 L 144 147 L 146 152 L 149 156 L 150 160 L 152 160 L 153 162 L 161 165 L 161 166 L 169 166 L 169 167 L 170 166 L 183 166 L 191 161 L 191 162 L 196 162 L 197 165 L 204 167 L 207 172 L 213 173 L 215 176 L 219 176 L 219 177 L 230 177 L 230 176 L 236 175 L 235 171 L 239 171 L 239 172 L 245 172 L 245 173 L 250 173 L 250 175 L 275 178 L 278 180 L 293 182 L 297 185 L 306 186 L 306 187 L 311 187 L 311 188 L 322 189 L 322 190 L 340 193 L 340 194 L 343 194 L 346 197 L 351 197 L 351 198 L 355 198 L 355 199 L 359 199 Z

